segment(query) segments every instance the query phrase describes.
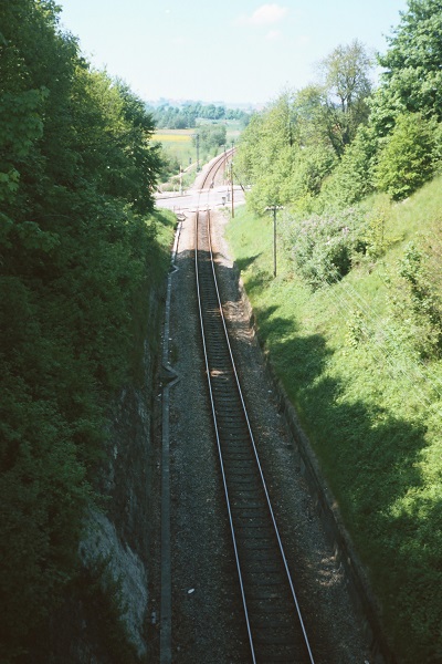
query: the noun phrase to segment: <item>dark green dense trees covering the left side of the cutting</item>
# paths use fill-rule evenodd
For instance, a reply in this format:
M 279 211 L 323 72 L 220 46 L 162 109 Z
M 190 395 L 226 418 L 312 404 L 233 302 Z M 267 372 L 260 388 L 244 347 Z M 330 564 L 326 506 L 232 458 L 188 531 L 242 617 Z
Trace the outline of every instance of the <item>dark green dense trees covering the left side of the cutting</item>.
M 147 312 L 134 308 L 158 271 L 160 221 L 143 102 L 90 69 L 52 0 L 2 2 L 0 27 L 0 660 L 10 662 L 44 643 L 75 574 L 106 404 L 135 375 L 146 333 Z

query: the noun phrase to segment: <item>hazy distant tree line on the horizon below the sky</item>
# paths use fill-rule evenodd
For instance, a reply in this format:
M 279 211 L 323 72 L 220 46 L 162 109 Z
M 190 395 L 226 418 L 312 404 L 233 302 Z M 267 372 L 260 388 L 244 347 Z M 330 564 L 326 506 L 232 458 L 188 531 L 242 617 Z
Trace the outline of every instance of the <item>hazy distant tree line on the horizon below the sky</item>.
M 198 120 L 236 120 L 245 126 L 249 122 L 250 114 L 240 108 L 227 108 L 225 106 L 215 106 L 214 104 L 185 104 L 183 106 L 170 106 L 164 104 L 158 107 L 146 106 L 146 110 L 151 114 L 155 124 L 158 128 L 167 129 L 189 129 L 197 126 Z

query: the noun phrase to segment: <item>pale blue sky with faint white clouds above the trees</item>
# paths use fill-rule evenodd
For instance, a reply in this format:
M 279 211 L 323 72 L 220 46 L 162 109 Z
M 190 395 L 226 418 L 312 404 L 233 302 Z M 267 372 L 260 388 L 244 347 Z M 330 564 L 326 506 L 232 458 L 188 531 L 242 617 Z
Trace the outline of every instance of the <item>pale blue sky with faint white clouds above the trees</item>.
M 358 39 L 383 52 L 407 0 L 59 0 L 97 68 L 145 100 L 266 103 Z

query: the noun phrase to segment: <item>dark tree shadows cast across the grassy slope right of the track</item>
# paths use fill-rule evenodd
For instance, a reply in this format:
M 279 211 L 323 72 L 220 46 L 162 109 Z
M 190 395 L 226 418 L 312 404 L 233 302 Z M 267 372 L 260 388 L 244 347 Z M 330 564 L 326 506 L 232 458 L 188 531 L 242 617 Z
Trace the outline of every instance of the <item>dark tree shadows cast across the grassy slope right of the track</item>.
M 218 266 L 221 283 L 224 271 L 231 279 L 229 270 Z M 269 272 L 256 271 L 249 293 L 271 279 Z M 428 523 L 438 522 L 441 500 L 423 496 L 420 461 L 427 447 L 425 427 L 399 417 L 381 397 L 377 404 L 364 397 L 350 400 L 348 385 L 330 373 L 334 351 L 323 334 L 302 335 L 296 320 L 280 315 L 276 305 L 255 308 L 254 318 L 260 342 L 296 407 L 357 550 L 369 566 L 386 624 L 397 632 L 398 654 L 408 662 L 438 661 L 441 643 L 429 639 L 428 625 L 435 633 L 442 618 L 433 592 L 440 585 L 442 529 Z

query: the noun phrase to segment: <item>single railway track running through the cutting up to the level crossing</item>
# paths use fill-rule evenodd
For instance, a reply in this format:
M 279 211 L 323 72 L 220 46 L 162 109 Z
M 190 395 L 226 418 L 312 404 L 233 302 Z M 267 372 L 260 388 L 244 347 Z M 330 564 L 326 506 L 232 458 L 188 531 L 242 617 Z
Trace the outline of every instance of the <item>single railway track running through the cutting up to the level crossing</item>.
M 222 312 L 210 211 L 196 214 L 201 339 L 251 661 L 314 664 Z

